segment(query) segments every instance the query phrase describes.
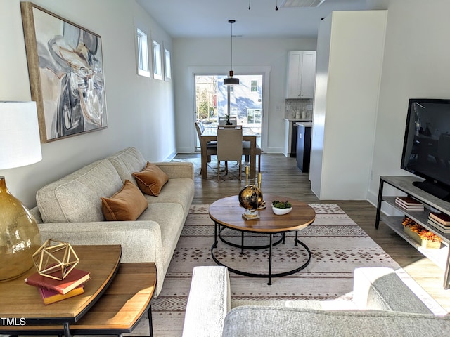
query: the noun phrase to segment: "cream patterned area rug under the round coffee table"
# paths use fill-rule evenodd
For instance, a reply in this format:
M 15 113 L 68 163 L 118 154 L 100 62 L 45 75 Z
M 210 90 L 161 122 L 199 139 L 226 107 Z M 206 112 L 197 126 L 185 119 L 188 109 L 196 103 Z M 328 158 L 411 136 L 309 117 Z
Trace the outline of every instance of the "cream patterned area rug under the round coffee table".
M 399 268 L 339 206 L 311 206 L 316 211 L 316 220 L 299 232 L 299 239 L 311 250 L 309 265 L 294 275 L 273 278 L 271 286 L 267 285 L 265 278 L 230 273 L 232 306 L 242 303 L 275 303 L 279 300 L 352 300 L 354 268 Z M 208 216 L 208 207 L 191 206 L 162 292 L 153 302 L 155 336 L 181 336 L 193 267 L 216 265 L 210 252 L 214 241 L 214 223 Z M 231 230 L 224 231 L 223 234 L 230 240 L 233 237 L 238 239 L 240 235 Z M 278 244 L 274 248 L 274 272 L 294 269 L 307 258 L 304 249 L 294 245 L 293 235 L 287 235 L 285 244 Z M 268 240 L 264 234 L 249 239 L 255 242 Z M 238 269 L 264 272 L 268 267 L 267 249 L 245 250 L 241 254 L 240 249 L 219 242 L 216 253 L 224 263 Z

